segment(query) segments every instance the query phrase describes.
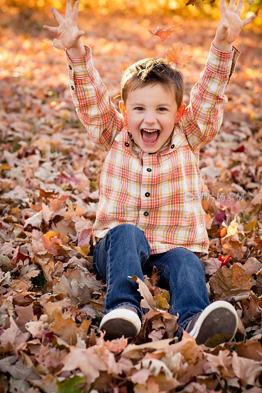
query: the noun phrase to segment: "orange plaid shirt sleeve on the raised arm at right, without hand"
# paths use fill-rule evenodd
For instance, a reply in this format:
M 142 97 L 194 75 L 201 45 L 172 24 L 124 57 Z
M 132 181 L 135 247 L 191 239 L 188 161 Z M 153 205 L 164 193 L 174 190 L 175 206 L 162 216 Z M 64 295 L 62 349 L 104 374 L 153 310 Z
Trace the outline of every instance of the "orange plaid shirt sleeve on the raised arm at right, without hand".
M 181 118 L 192 150 L 200 150 L 218 133 L 228 102 L 224 92 L 240 54 L 234 46 L 231 52 L 221 52 L 212 42 L 204 71 L 191 90 L 190 103 Z

